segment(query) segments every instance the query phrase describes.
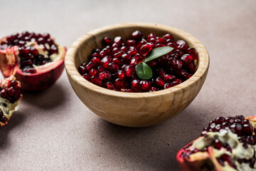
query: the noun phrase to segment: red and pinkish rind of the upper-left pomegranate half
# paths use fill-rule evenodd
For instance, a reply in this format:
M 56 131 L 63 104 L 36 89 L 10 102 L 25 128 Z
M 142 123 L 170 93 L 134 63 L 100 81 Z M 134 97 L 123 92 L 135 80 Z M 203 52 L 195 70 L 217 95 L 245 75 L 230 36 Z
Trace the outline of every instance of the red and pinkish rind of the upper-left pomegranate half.
M 1 41 L 5 40 L 6 37 L 1 39 Z M 18 65 L 18 46 L 12 46 L 0 50 L 0 69 L 5 78 L 14 75 L 21 82 L 22 90 L 45 90 L 63 73 L 66 51 L 65 46 L 58 46 L 58 58 L 55 61 L 36 67 L 36 73 L 23 73 Z

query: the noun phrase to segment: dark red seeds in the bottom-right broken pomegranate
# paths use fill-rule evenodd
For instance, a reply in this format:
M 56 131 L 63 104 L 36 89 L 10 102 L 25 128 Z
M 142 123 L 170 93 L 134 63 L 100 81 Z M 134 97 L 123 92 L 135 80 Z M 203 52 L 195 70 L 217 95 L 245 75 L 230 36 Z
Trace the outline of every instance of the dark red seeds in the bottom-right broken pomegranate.
M 242 143 L 242 146 L 247 149 L 248 145 L 256 145 L 256 129 L 252 128 L 252 125 L 250 124 L 249 120 L 246 120 L 243 115 L 236 115 L 235 117 L 218 117 L 215 118 L 215 120 L 210 121 L 208 124 L 208 127 L 204 128 L 201 136 L 206 135 L 209 132 L 220 132 L 220 130 L 231 130 L 232 133 L 238 135 L 238 140 L 240 143 Z M 181 157 L 189 157 L 191 154 L 198 152 L 198 149 L 190 150 L 188 147 L 190 147 L 193 143 L 187 145 L 183 148 L 183 153 L 181 154 Z M 214 147 L 215 149 L 220 150 L 221 148 L 225 148 L 227 151 L 232 153 L 232 148 L 227 143 L 223 143 L 218 138 L 216 138 L 213 141 L 213 144 L 210 145 Z M 208 147 L 204 149 L 203 151 L 207 151 Z M 230 155 L 223 154 L 220 155 L 220 157 L 216 157 L 217 161 L 220 163 L 220 165 L 224 166 L 224 162 L 228 162 L 228 165 L 231 167 L 237 168 L 234 164 L 233 160 L 231 159 Z M 253 155 L 252 158 L 249 160 L 246 160 L 245 158 L 240 159 L 238 158 L 238 162 L 241 164 L 243 162 L 247 163 L 250 167 L 254 168 L 255 165 L 255 155 Z

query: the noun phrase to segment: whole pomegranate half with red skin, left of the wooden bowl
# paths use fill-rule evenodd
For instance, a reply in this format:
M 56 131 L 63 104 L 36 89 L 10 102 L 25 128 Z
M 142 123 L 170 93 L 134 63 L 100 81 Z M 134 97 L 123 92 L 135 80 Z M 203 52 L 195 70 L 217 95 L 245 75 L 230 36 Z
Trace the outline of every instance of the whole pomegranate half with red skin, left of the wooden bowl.
M 14 33 L 1 38 L 0 69 L 4 77 L 16 76 L 22 90 L 45 90 L 63 72 L 66 51 L 48 33 Z

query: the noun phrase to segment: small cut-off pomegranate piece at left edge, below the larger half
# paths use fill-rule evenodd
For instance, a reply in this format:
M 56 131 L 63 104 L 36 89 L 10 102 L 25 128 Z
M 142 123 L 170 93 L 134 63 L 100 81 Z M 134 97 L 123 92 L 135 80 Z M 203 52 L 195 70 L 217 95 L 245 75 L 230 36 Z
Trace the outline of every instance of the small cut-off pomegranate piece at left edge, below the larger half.
M 0 80 L 0 126 L 8 123 L 22 98 L 21 83 L 14 76 Z

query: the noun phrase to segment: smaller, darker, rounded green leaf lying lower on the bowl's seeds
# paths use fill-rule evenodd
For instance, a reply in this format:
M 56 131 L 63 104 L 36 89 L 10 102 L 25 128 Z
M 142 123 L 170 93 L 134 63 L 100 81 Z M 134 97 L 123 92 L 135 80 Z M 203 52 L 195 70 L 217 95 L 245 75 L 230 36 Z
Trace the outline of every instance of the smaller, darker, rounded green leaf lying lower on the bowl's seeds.
M 144 62 L 137 65 L 136 72 L 137 76 L 143 80 L 149 80 L 153 75 L 150 66 Z

